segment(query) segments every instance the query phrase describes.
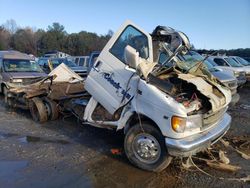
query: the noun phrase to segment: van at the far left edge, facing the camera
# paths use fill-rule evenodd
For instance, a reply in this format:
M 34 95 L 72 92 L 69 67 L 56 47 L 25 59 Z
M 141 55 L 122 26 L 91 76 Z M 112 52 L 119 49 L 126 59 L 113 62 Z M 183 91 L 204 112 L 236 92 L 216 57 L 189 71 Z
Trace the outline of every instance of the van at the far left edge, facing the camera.
M 0 92 L 43 79 L 47 74 L 32 57 L 18 51 L 0 51 Z M 7 102 L 7 101 L 5 101 Z

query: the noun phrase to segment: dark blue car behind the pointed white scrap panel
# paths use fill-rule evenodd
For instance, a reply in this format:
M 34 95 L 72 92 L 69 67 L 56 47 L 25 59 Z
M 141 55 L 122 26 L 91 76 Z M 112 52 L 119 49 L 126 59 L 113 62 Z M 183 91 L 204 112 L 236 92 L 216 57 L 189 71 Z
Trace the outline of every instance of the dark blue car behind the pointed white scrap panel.
M 56 68 L 61 63 L 67 65 L 71 70 L 80 75 L 81 77 L 87 76 L 87 68 L 82 66 L 77 66 L 74 62 L 67 58 L 39 58 L 38 64 L 46 72 L 50 73 L 51 70 Z

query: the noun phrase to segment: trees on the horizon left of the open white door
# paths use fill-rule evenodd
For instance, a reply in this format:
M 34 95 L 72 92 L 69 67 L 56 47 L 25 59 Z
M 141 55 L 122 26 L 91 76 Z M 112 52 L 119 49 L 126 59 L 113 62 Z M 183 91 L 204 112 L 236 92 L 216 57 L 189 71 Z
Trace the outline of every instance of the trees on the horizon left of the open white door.
M 102 50 L 112 35 L 111 30 L 105 35 L 88 31 L 69 34 L 60 23 L 53 23 L 46 30 L 20 28 L 14 20 L 8 20 L 0 26 L 0 50 L 13 49 L 35 56 L 52 50 L 89 55 L 92 51 Z

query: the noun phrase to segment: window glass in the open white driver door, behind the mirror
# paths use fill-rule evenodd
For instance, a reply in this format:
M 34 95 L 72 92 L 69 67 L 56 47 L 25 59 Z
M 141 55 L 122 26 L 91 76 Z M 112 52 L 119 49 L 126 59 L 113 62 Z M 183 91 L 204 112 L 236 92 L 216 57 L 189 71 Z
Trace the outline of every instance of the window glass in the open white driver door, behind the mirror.
M 147 59 L 149 56 L 148 38 L 139 30 L 132 26 L 128 26 L 117 41 L 114 43 L 110 52 L 121 60 L 124 61 L 124 49 L 127 45 L 135 48 L 139 52 L 141 58 Z

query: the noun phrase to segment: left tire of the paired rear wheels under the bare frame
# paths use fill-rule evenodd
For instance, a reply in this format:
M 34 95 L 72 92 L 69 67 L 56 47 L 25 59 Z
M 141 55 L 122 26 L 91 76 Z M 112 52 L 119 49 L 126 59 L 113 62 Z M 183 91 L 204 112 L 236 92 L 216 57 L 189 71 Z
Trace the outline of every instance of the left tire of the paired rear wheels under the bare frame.
M 47 109 L 42 99 L 38 97 L 32 98 L 29 102 L 29 108 L 34 121 L 40 123 L 48 121 Z

